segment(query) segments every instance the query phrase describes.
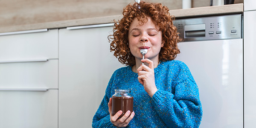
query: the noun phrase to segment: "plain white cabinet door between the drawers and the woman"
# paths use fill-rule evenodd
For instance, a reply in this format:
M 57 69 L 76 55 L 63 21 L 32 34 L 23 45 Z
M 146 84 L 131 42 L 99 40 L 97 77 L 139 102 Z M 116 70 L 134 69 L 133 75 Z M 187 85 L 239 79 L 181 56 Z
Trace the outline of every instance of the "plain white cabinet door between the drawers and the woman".
M 112 73 L 122 67 L 110 52 L 113 27 L 59 30 L 59 127 L 91 128 Z

